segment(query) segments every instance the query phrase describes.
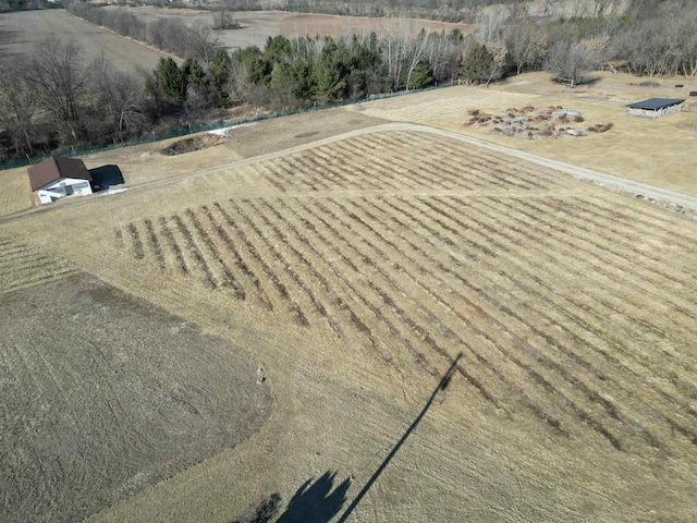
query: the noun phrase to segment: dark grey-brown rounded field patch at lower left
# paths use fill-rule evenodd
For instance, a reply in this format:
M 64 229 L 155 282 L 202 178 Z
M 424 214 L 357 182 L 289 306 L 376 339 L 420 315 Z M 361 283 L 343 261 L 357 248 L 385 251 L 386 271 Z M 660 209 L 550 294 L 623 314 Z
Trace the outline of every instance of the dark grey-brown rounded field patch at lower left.
M 0 331 L 4 522 L 82 521 L 269 413 L 237 349 L 85 273 L 5 294 Z

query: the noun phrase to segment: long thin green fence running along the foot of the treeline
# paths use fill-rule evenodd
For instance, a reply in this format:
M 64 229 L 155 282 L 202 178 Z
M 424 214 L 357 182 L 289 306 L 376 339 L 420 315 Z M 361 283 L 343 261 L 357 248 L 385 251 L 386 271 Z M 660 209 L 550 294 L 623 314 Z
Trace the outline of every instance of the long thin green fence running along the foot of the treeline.
M 154 142 L 161 142 L 163 139 L 169 139 L 169 138 L 175 138 L 179 136 L 187 136 L 189 134 L 196 134 L 196 133 L 200 133 L 204 131 L 215 131 L 218 129 L 224 129 L 224 127 L 231 127 L 231 126 L 235 126 L 235 125 L 242 125 L 244 123 L 253 123 L 253 122 L 259 122 L 262 120 L 269 120 L 272 118 L 281 118 L 281 117 L 289 117 L 291 114 L 299 114 L 303 112 L 310 112 L 310 111 L 319 111 L 322 109 L 329 109 L 332 107 L 343 107 L 343 106 L 348 106 L 348 105 L 353 105 L 353 104 L 360 104 L 360 102 L 368 102 L 368 101 L 372 101 L 372 100 L 379 100 L 379 99 L 383 99 L 383 98 L 392 98 L 395 96 L 403 96 L 403 95 L 411 95 L 413 93 L 420 93 L 424 90 L 432 90 L 432 89 L 441 89 L 444 87 L 451 87 L 453 85 L 456 85 L 457 82 L 450 82 L 448 84 L 440 84 L 440 85 L 432 85 L 429 87 L 424 87 L 421 89 L 409 89 L 409 90 L 399 90 L 396 93 L 386 93 L 386 94 L 381 94 L 381 95 L 372 95 L 372 96 L 368 96 L 368 97 L 364 97 L 364 98 L 354 98 L 354 99 L 347 99 L 347 100 L 341 100 L 341 101 L 335 101 L 335 102 L 330 102 L 330 104 L 321 104 L 321 105 L 314 105 L 314 106 L 309 106 L 309 107 L 303 107 L 299 109 L 288 109 L 285 111 L 274 111 L 274 112 L 268 112 L 268 113 L 264 113 L 264 114 L 257 114 L 254 117 L 246 117 L 246 118 L 240 118 L 236 120 L 220 120 L 217 122 L 212 122 L 212 123 L 206 123 L 204 125 L 197 125 L 195 127 L 192 126 L 186 126 L 186 127 L 180 127 L 180 129 L 175 129 L 173 131 L 168 131 L 166 133 L 159 133 L 159 134 L 155 134 L 151 133 L 149 135 L 144 135 L 144 136 L 139 136 L 137 138 L 133 138 L 133 139 L 129 139 L 129 141 L 124 141 L 124 142 L 118 142 L 118 143 L 113 143 L 113 144 L 103 144 L 103 145 L 95 145 L 91 147 L 83 147 L 80 149 L 75 149 L 75 148 L 70 148 L 70 149 L 64 149 L 64 150 L 57 150 L 51 153 L 50 155 L 45 155 L 45 156 L 35 156 L 32 158 L 22 158 L 22 159 L 17 159 L 17 160 L 10 160 L 7 161 L 4 163 L 0 163 L 0 171 L 5 170 L 5 169 L 14 169 L 17 167 L 24 167 L 24 166 L 30 166 L 34 163 L 38 163 L 39 161 L 42 161 L 47 158 L 51 158 L 53 156 L 84 156 L 84 155 L 91 155 L 94 153 L 101 153 L 103 150 L 111 150 L 111 149 L 117 149 L 120 147 L 130 147 L 133 145 L 142 145 L 142 144 L 150 144 Z

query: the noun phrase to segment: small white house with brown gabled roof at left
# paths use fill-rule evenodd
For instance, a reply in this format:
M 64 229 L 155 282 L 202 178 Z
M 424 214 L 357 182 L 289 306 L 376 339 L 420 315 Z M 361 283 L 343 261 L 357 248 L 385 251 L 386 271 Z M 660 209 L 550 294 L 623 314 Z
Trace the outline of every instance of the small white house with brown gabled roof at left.
M 77 158 L 48 158 L 27 169 L 32 191 L 41 204 L 50 204 L 65 196 L 91 194 L 91 175 Z

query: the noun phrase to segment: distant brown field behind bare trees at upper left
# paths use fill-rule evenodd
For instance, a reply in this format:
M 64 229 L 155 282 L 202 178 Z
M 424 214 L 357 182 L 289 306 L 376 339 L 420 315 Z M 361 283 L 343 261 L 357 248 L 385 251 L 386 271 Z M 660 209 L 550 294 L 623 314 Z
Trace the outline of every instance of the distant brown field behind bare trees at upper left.
M 0 14 L 0 63 L 12 63 L 32 52 L 41 39 L 58 36 L 77 44 L 85 63 L 105 56 L 124 71 L 152 70 L 167 54 L 97 27 L 65 10 L 25 11 Z

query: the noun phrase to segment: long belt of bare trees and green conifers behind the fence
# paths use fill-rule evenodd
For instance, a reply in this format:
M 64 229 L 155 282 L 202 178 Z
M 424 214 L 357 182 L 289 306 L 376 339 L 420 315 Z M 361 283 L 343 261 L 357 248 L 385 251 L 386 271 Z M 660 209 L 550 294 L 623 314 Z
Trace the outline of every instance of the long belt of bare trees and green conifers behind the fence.
M 231 54 L 210 27 L 72 9 L 182 59 L 129 74 L 103 60 L 85 63 L 70 42 L 41 42 L 21 66 L 0 72 L 0 161 L 196 125 L 241 104 L 280 110 L 542 69 L 574 86 L 599 64 L 648 76 L 697 74 L 697 5 L 682 0 L 631 0 L 622 14 L 592 17 L 492 11 L 467 36 L 414 35 L 393 21 L 386 35 L 277 36 L 264 49 Z

